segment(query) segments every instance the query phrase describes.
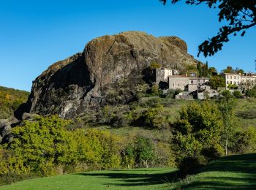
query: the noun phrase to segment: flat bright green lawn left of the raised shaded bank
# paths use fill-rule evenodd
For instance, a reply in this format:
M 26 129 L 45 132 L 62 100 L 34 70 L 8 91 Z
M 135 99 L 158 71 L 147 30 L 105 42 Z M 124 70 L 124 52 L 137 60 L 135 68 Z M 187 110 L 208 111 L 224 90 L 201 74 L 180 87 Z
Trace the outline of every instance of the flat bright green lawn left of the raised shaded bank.
M 174 168 L 102 170 L 23 180 L 0 189 L 169 189 Z

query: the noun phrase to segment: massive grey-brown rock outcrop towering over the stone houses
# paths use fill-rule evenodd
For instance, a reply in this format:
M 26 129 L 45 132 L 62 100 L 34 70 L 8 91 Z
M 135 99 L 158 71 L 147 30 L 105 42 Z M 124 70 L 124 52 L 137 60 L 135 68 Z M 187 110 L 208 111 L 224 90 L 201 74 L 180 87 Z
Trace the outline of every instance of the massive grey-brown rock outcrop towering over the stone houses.
M 83 53 L 49 66 L 37 77 L 23 112 L 74 118 L 107 104 L 121 81 L 129 89 L 141 83 L 143 69 L 153 62 L 182 70 L 197 61 L 178 37 L 153 37 L 139 31 L 99 37 Z M 119 95 L 118 102 L 129 102 L 134 94 Z

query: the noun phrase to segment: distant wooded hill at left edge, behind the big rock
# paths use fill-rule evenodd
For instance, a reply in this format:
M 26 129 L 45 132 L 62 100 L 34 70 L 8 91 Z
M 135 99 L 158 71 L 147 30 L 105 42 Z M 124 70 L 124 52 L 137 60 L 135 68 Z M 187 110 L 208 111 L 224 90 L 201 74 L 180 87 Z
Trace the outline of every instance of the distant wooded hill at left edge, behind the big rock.
M 29 92 L 0 86 L 0 119 L 9 118 L 20 104 L 27 101 Z

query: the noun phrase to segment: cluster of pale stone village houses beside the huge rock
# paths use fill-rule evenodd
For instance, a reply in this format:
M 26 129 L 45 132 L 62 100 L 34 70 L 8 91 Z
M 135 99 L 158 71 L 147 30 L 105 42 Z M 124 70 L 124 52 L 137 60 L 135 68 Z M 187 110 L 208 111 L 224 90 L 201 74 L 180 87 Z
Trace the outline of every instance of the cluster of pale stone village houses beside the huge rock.
M 218 75 L 217 72 L 211 75 Z M 167 90 L 180 90 L 175 96 L 176 99 L 207 99 L 220 95 L 223 90 L 240 91 L 244 93 L 247 89 L 256 85 L 256 75 L 248 73 L 221 73 L 220 76 L 225 81 L 225 87 L 213 89 L 209 77 L 197 77 L 197 72 L 187 72 L 179 75 L 176 69 L 160 67 L 155 69 L 156 83 L 167 83 Z

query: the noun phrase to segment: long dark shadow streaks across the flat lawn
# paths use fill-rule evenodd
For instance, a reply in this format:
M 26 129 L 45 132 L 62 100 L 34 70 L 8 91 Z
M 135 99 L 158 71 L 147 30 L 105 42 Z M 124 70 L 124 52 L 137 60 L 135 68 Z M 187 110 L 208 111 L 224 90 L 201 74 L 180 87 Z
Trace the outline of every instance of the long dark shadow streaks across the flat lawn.
M 120 181 L 120 183 L 105 183 L 105 185 L 113 186 L 150 186 L 178 181 L 178 171 L 154 174 L 147 173 L 150 171 L 157 170 L 112 170 L 102 173 L 78 173 L 77 175 L 93 176 L 94 178 L 102 179 L 117 179 Z

